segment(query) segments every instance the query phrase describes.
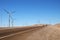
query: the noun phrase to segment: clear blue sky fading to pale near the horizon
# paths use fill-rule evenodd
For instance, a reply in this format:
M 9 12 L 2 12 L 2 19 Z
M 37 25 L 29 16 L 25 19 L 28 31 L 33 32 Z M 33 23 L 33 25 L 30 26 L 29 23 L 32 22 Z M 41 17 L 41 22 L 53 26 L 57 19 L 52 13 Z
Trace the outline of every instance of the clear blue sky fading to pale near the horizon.
M 8 14 L 14 26 L 60 23 L 60 0 L 0 0 L 0 26 L 8 26 Z

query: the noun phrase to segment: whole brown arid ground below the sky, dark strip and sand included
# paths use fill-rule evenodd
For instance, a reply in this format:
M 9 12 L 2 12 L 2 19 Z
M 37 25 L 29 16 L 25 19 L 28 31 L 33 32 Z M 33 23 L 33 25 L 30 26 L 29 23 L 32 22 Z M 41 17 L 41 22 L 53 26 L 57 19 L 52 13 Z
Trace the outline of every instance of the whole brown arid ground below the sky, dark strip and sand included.
M 9 30 L 11 32 L 7 32 L 7 34 L 0 36 L 0 40 L 60 40 L 60 24 L 42 26 L 32 25 Z M 5 31 L 1 32 L 2 31 L 0 30 L 0 35 Z

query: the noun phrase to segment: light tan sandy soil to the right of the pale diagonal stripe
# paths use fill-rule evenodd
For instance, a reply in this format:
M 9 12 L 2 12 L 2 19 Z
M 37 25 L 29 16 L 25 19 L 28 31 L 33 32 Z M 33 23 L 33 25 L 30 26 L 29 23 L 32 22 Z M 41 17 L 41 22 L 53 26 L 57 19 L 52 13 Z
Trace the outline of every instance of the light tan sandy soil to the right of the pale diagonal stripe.
M 3 40 L 60 40 L 60 28 L 56 26 L 47 26 Z

